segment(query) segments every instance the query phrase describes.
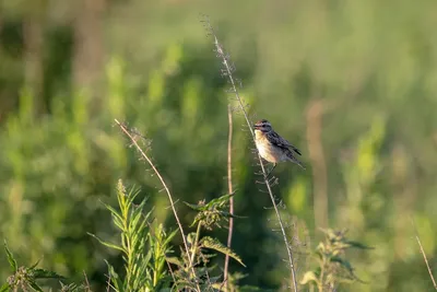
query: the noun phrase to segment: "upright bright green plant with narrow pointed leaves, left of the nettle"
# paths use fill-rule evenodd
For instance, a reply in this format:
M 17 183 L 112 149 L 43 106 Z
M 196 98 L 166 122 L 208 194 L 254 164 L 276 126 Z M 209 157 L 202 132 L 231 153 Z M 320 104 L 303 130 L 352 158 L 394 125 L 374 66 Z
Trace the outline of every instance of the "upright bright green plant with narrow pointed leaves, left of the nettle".
M 123 280 L 108 264 L 109 277 L 116 291 L 160 291 L 169 285 L 169 278 L 164 269 L 166 254 L 170 252 L 169 242 L 176 232 L 167 235 L 162 225 L 154 226 L 149 222 L 151 213 L 144 213 L 145 202 L 134 200 L 139 190 L 127 191 L 122 182 L 117 185 L 119 210 L 110 206 L 113 222 L 120 233 L 120 243 L 113 244 L 97 238 L 103 245 L 122 253 L 125 262 Z

